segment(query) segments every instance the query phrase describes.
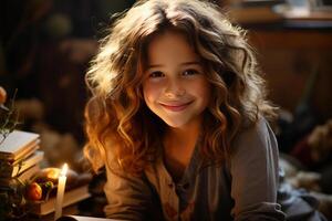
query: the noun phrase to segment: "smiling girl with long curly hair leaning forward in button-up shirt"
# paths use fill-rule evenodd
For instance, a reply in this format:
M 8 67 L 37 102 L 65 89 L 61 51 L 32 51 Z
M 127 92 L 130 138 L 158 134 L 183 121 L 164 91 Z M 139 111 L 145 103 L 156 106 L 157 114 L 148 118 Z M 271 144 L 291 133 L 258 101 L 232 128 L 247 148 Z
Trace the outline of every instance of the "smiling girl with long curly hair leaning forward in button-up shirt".
M 245 33 L 211 3 L 138 1 L 86 75 L 85 154 L 120 220 L 283 220 L 278 149 Z

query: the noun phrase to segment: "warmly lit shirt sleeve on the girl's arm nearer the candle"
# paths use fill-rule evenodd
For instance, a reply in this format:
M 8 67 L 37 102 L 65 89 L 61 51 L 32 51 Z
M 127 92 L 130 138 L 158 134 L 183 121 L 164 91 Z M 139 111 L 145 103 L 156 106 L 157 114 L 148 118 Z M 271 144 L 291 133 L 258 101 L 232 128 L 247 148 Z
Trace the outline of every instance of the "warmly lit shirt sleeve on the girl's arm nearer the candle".
M 144 177 L 115 173 L 106 166 L 106 178 L 104 186 L 108 201 L 104 208 L 106 217 L 116 220 L 146 220 L 152 191 Z

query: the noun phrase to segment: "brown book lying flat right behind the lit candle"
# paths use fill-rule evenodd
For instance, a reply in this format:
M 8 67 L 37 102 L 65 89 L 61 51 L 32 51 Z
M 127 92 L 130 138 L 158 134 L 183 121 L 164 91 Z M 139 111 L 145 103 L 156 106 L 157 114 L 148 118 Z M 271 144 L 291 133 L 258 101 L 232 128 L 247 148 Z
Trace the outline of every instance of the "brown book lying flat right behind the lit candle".
M 71 206 L 75 202 L 82 201 L 90 197 L 89 185 L 80 186 L 74 189 L 68 190 L 63 196 L 63 207 Z M 45 215 L 54 212 L 56 196 L 49 198 L 46 201 L 41 203 L 32 204 L 31 212 L 39 215 Z

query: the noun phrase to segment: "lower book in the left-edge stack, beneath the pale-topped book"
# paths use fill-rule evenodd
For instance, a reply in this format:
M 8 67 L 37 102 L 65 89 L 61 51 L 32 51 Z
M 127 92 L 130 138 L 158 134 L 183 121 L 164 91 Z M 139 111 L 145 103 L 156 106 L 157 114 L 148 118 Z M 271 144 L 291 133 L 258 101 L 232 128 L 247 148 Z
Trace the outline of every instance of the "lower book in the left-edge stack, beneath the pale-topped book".
M 44 152 L 41 150 L 37 150 L 32 152 L 31 156 L 28 156 L 24 159 L 19 159 L 14 162 L 8 162 L 6 160 L 2 160 L 0 162 L 0 177 L 15 177 L 33 165 L 39 164 L 43 159 Z

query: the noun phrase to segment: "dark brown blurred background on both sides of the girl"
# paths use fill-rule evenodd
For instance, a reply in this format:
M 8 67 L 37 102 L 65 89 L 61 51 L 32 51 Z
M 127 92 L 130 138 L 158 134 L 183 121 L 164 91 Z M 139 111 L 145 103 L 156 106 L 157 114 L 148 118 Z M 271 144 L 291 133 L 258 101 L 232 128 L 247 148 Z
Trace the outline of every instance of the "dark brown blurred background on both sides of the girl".
M 84 75 L 105 29 L 135 0 L 2 0 L 0 86 L 22 130 L 41 135 L 44 166 L 82 170 Z M 323 175 L 332 193 L 331 0 L 214 1 L 250 44 L 280 107 L 274 131 L 298 170 Z M 330 122 L 329 122 L 330 120 Z M 329 178 L 329 179 L 328 179 Z M 301 183 L 295 183 L 301 186 Z

